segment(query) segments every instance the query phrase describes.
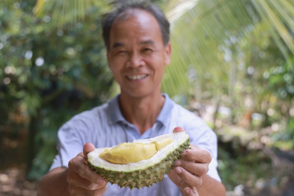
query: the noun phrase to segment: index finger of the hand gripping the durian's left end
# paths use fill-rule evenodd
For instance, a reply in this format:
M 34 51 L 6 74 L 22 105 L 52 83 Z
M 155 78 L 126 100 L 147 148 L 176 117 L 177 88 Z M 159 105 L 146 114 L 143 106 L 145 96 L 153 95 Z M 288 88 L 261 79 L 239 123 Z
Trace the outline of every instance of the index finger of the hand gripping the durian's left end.
M 83 159 L 83 155 L 76 156 L 69 162 L 69 170 L 71 172 L 76 172 L 79 176 L 86 178 L 92 183 L 104 185 L 106 181 L 98 174 L 95 173 L 87 164 L 87 162 Z

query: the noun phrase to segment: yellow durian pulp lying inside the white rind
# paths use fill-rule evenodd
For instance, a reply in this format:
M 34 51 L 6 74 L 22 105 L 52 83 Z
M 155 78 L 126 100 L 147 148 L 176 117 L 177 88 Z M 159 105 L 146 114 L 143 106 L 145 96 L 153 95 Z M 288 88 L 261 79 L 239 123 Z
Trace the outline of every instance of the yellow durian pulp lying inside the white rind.
M 157 151 L 166 147 L 172 139 L 166 138 L 149 144 L 122 143 L 113 148 L 107 148 L 99 157 L 114 164 L 126 165 L 151 158 Z

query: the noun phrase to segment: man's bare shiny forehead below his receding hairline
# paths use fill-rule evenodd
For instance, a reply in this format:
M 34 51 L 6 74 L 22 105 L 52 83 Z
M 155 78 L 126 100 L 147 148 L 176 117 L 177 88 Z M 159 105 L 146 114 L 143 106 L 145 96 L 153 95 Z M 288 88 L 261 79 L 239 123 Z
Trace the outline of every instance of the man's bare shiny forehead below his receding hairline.
M 127 39 L 162 42 L 161 29 L 156 18 L 145 10 L 132 9 L 116 19 L 110 29 L 110 47 Z

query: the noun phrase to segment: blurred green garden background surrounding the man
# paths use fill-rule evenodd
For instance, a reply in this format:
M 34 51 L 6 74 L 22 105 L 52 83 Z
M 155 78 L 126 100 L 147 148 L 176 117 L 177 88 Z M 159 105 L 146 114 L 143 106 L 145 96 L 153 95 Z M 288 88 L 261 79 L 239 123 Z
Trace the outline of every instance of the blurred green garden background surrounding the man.
M 153 0 L 171 22 L 162 91 L 219 140 L 227 196 L 294 195 L 294 0 Z M 34 196 L 58 128 L 119 93 L 115 0 L 0 0 L 0 196 Z

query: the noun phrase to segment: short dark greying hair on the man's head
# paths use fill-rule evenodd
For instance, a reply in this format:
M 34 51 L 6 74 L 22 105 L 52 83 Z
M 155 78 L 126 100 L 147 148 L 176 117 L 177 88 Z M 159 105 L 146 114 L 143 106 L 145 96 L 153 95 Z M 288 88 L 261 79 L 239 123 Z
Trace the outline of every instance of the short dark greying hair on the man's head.
M 127 0 L 127 1 L 123 0 L 123 2 L 117 4 L 116 8 L 112 12 L 106 13 L 102 17 L 102 22 L 101 22 L 102 37 L 103 37 L 106 49 L 107 50 L 110 49 L 109 34 L 110 34 L 110 29 L 113 22 L 117 19 L 125 20 L 124 17 L 127 14 L 127 12 L 133 9 L 147 11 L 148 13 L 152 14 L 155 17 L 156 21 L 158 22 L 160 26 L 163 44 L 164 46 L 167 46 L 167 44 L 170 41 L 170 23 L 165 17 L 162 10 L 148 0 L 143 0 L 139 2 L 138 1 L 135 2 L 134 0 Z

